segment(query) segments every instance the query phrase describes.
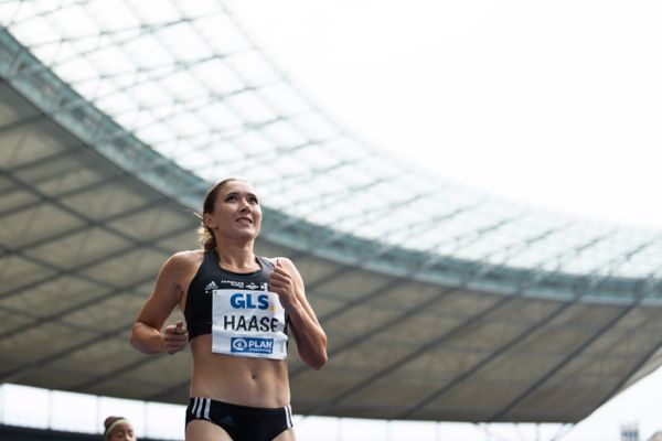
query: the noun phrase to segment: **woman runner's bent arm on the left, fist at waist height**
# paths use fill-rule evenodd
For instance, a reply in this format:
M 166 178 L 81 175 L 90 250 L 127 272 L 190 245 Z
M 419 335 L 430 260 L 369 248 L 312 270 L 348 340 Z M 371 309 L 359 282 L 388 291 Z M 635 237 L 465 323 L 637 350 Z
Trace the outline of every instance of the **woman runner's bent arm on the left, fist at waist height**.
M 191 271 L 194 254 L 177 252 L 161 267 L 154 290 L 134 321 L 130 343 L 136 349 L 145 354 L 174 354 L 186 347 L 189 334 L 181 321 L 166 326 L 163 332 L 161 329 L 181 300 L 182 281 Z

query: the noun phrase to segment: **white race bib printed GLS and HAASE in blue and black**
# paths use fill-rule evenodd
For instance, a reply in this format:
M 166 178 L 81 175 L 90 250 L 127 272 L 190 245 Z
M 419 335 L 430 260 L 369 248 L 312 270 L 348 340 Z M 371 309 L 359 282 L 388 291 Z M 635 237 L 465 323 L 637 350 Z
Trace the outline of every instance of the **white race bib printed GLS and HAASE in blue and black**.
M 268 291 L 212 291 L 212 352 L 243 357 L 287 358 L 285 310 Z

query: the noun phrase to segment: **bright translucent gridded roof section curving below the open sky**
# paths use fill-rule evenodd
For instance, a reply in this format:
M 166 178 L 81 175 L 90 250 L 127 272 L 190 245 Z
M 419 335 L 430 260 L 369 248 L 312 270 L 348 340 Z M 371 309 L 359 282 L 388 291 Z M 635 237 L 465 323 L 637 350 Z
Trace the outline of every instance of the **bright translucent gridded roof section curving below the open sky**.
M 648 277 L 660 230 L 576 222 L 412 170 L 299 94 L 223 2 L 8 1 L 3 25 L 84 99 L 207 181 L 383 244 L 514 268 Z M 142 173 L 150 173 L 148 168 Z

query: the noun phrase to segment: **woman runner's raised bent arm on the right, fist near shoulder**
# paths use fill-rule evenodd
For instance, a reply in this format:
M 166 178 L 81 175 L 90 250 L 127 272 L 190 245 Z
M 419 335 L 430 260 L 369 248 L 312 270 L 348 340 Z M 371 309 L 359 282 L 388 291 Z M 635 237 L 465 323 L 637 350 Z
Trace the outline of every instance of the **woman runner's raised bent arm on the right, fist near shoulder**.
M 313 369 L 327 363 L 327 334 L 306 299 L 303 279 L 291 260 L 279 257 L 269 279 L 270 290 L 287 311 L 299 355 Z

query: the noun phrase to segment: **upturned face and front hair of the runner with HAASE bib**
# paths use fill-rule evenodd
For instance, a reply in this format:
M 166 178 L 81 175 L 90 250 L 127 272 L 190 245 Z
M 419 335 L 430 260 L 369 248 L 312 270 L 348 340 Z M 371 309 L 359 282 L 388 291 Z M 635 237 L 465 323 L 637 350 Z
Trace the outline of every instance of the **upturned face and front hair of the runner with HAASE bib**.
M 204 214 L 204 223 L 217 240 L 256 238 L 261 226 L 261 208 L 253 185 L 237 180 L 218 189 L 214 209 Z

